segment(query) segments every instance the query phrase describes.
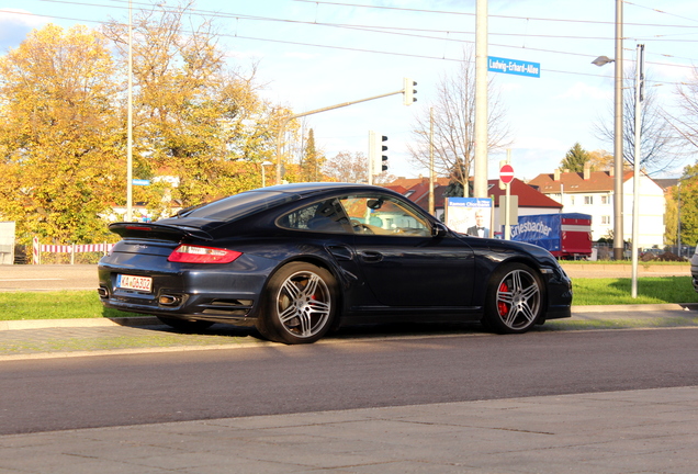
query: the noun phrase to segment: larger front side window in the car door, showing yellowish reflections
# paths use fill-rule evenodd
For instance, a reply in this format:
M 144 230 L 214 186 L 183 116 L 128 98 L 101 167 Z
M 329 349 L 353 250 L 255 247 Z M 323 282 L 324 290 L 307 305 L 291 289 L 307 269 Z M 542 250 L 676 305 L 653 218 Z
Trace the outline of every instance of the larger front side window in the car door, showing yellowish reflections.
M 356 234 L 428 237 L 429 223 L 390 196 L 348 196 L 340 200 Z

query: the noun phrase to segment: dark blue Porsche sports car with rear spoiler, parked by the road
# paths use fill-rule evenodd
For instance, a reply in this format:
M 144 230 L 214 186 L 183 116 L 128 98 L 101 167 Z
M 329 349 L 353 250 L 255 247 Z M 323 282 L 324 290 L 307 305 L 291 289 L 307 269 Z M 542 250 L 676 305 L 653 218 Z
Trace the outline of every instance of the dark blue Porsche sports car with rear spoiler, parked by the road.
M 122 240 L 99 263 L 102 303 L 182 330 L 227 323 L 303 343 L 350 324 L 508 334 L 571 315 L 572 284 L 547 250 L 454 233 L 384 188 L 278 185 L 110 229 Z

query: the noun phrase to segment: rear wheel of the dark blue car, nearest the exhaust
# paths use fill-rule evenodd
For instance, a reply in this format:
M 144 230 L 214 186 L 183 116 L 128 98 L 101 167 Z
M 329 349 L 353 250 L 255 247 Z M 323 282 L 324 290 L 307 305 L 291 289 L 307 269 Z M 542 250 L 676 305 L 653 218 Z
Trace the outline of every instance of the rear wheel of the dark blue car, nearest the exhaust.
M 337 303 L 331 273 L 312 263 L 289 263 L 269 280 L 257 329 L 275 342 L 315 342 L 333 326 Z

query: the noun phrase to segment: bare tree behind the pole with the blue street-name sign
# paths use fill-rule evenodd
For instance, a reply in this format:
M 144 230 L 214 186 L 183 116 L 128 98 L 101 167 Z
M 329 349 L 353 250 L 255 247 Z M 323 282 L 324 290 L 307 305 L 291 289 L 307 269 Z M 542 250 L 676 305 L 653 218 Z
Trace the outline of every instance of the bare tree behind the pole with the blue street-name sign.
M 502 149 L 509 144 L 506 111 L 489 82 L 487 149 Z M 443 76 L 437 86 L 436 103 L 416 116 L 408 146 L 413 162 L 429 167 L 430 128 L 434 123 L 434 157 L 437 176 L 450 177 L 451 184 L 468 194 L 468 181 L 475 157 L 475 63 L 466 50 L 459 70 Z

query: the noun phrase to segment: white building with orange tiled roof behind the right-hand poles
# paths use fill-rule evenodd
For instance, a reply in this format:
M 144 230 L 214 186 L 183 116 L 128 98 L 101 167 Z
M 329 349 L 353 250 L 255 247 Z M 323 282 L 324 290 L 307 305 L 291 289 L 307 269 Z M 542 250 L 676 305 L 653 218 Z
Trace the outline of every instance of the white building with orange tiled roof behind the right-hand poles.
M 640 173 L 640 218 L 638 247 L 664 247 L 664 190 L 645 173 Z M 613 230 L 613 171 L 584 172 L 555 170 L 553 174 L 539 174 L 528 182 L 563 205 L 563 212 L 592 215 L 592 240 L 612 236 Z M 623 174 L 623 240 L 632 240 L 634 177 Z

